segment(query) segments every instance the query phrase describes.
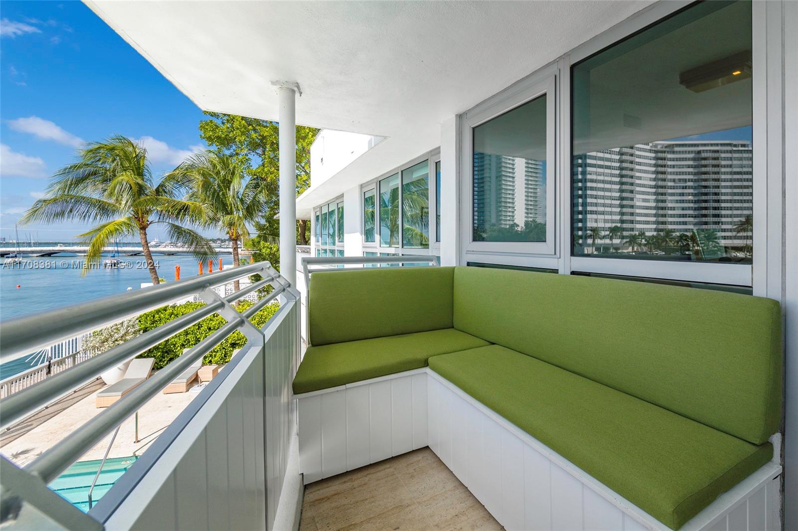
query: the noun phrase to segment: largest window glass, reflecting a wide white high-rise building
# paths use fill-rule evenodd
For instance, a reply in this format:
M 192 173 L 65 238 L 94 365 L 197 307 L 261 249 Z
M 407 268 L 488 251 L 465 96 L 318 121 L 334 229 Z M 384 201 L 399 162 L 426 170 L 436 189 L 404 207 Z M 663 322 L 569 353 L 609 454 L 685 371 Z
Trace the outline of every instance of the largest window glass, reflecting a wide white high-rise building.
M 701 2 L 572 69 L 573 253 L 752 261 L 751 2 Z

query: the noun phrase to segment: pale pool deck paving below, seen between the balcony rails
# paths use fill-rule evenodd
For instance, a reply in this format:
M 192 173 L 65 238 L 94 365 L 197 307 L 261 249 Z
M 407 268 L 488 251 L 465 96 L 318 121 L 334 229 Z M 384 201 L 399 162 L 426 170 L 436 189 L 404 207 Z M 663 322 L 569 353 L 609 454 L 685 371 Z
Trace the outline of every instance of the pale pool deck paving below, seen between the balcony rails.
M 57 415 L 46 419 L 46 422 L 27 431 L 26 434 L 10 443 L 6 443 L 5 446 L 0 447 L 0 454 L 6 456 L 18 466 L 26 465 L 93 416 L 105 411 L 104 408 L 95 407 L 94 399 L 96 395 L 97 391 L 93 391 Z M 140 441 L 138 443 L 135 442 L 135 417 L 126 419 L 122 423 L 119 435 L 117 435 L 117 439 L 113 443 L 109 458 L 143 454 L 144 450 L 164 431 L 164 428 L 168 427 L 176 419 L 177 415 L 180 415 L 180 411 L 183 411 L 198 395 L 199 393 L 192 393 L 191 390 L 186 393 L 173 393 L 170 395 L 158 393 L 139 410 Z M 111 436 L 105 437 L 78 460 L 89 461 L 103 458 Z

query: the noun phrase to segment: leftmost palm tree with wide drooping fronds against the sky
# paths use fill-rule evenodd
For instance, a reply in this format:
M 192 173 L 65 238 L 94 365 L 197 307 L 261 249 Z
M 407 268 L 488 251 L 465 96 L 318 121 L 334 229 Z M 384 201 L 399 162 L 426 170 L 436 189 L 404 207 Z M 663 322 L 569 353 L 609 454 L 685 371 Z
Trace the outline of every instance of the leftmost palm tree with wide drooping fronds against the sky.
M 110 242 L 138 234 L 152 284 L 158 284 L 147 238 L 153 225 L 163 225 L 169 239 L 188 246 L 198 260 L 215 256 L 206 238 L 184 226 L 202 218 L 203 209 L 199 203 L 179 199 L 183 189 L 184 183 L 174 175 L 154 183 L 147 150 L 124 136 L 113 136 L 79 149 L 77 162 L 56 171 L 45 197 L 20 221 L 98 223 L 78 235 L 89 243 L 84 274 L 91 264 L 100 262 L 102 250 Z

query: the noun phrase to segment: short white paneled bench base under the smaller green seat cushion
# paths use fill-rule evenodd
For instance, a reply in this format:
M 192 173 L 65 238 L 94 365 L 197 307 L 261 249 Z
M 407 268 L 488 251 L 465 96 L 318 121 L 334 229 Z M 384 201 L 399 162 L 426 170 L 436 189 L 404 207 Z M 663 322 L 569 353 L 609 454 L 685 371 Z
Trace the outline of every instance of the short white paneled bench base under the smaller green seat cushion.
M 294 395 L 303 482 L 427 446 L 427 369 Z

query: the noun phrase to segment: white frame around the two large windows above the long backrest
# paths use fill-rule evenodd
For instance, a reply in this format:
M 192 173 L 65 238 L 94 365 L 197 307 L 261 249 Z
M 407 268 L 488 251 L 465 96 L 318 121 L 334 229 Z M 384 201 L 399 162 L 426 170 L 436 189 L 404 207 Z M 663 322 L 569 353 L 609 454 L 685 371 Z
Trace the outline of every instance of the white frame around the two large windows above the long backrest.
M 780 10 L 779 2 L 753 2 L 752 8 L 753 265 L 571 255 L 571 66 L 693 3 L 687 0 L 654 3 L 460 115 L 460 196 L 463 198 L 460 202 L 460 264 L 482 262 L 555 269 L 563 274 L 579 271 L 708 282 L 752 287 L 755 295 L 780 297 L 780 274 L 776 269 L 781 262 L 781 154 L 780 143 L 772 141 L 768 144 L 768 138 L 778 140 L 776 129 L 780 127 L 783 116 L 779 84 L 781 49 L 780 32 L 770 31 L 768 34 L 766 31 L 769 24 L 778 26 L 776 12 Z M 776 5 L 768 6 L 771 3 Z M 551 157 L 551 166 L 555 166 L 553 179 L 547 160 L 547 183 L 555 183 L 554 187 L 551 184 L 547 186 L 547 219 L 551 214 L 555 215 L 555 222 L 551 222 L 551 228 L 555 230 L 554 249 L 545 248 L 540 252 L 524 249 L 523 243 L 472 242 L 472 128 L 531 100 L 534 97 L 532 87 L 548 77 L 555 80 L 556 93 L 555 155 Z M 491 245 L 475 245 L 480 243 Z

